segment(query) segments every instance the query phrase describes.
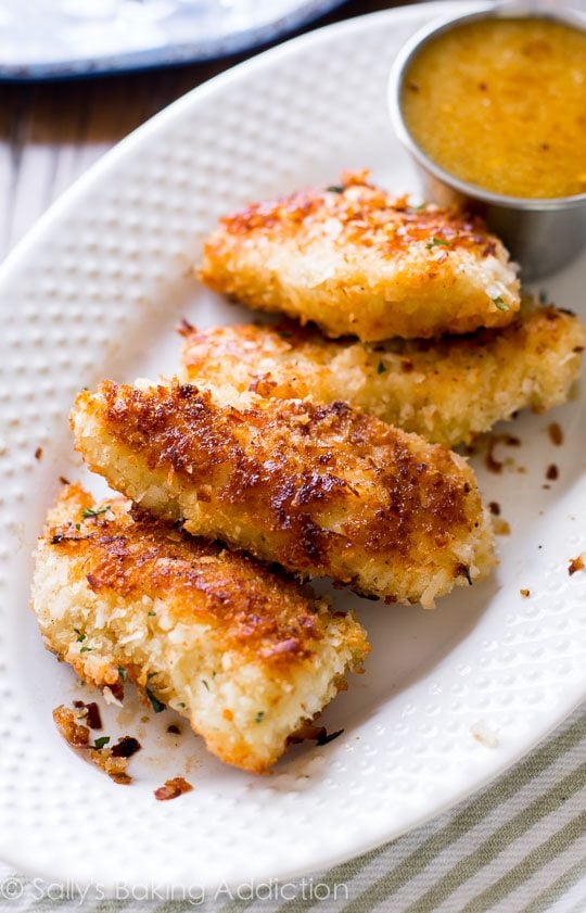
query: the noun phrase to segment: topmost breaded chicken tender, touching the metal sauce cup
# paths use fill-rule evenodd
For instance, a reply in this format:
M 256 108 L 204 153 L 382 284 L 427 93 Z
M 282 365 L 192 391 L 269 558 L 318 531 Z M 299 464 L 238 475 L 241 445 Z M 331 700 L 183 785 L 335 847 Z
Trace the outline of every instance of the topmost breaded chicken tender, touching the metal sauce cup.
M 365 342 L 510 324 L 519 282 L 484 224 L 409 206 L 367 174 L 227 216 L 204 246 L 200 278 L 254 309 Z

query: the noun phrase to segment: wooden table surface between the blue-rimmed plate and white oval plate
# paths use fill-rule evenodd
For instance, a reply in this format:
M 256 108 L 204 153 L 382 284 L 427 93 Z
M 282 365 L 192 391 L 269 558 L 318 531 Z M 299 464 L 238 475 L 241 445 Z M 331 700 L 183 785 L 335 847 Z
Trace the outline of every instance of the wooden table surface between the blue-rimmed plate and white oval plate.
M 352 0 L 295 34 L 396 5 Z M 110 147 L 179 96 L 253 53 L 258 51 L 75 81 L 0 84 L 0 261 Z

